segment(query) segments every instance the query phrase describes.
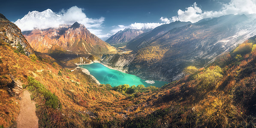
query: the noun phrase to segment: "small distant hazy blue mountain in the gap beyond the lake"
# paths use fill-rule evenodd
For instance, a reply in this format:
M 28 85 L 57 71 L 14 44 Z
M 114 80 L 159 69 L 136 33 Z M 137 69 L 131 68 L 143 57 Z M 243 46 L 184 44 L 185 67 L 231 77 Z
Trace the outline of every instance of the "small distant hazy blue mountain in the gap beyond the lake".
M 148 32 L 149 30 L 141 30 L 141 29 L 129 29 L 126 28 L 124 30 L 120 30 L 116 34 L 112 35 L 110 38 L 106 40 L 108 44 L 121 44 L 128 42 L 142 33 Z

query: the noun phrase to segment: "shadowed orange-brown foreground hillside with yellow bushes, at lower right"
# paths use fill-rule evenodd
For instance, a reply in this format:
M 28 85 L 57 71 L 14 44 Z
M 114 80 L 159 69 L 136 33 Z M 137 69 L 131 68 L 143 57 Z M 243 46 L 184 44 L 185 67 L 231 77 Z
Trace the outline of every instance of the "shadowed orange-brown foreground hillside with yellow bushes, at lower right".
M 138 105 L 137 110 L 158 110 L 119 122 L 127 128 L 254 127 L 255 47 L 256 36 L 222 54 L 208 67 L 160 88 L 155 94 L 133 99 L 145 99 L 144 105 Z M 219 79 L 216 73 L 220 75 Z

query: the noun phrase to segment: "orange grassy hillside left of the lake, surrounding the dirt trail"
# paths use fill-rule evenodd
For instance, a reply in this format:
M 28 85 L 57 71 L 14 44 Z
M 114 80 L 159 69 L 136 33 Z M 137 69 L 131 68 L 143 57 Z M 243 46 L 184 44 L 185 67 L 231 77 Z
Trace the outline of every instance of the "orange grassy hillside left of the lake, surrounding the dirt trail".
M 28 57 L 15 52 L 16 48 L 6 42 L 0 42 L 0 125 L 3 127 L 15 126 L 19 113 L 19 99 L 7 91 L 12 78 L 20 81 L 23 89 L 32 92 L 39 127 L 93 126 L 89 122 L 108 119 L 113 110 L 119 109 L 102 106 L 123 98 L 123 95 L 103 85 L 91 84 L 85 73 L 71 72 L 34 54 Z

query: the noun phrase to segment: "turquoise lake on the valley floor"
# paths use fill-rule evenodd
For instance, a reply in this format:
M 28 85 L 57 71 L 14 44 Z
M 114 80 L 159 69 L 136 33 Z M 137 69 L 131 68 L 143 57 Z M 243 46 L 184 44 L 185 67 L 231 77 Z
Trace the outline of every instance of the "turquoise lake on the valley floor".
M 143 84 L 145 87 L 162 87 L 164 84 L 168 84 L 168 82 L 165 81 L 154 81 L 154 84 L 149 84 L 145 82 L 146 80 L 140 79 L 137 76 L 109 69 L 100 63 L 84 64 L 79 65 L 79 67 L 87 69 L 100 84 L 110 84 L 112 87 L 121 84 L 129 84 L 130 86 Z

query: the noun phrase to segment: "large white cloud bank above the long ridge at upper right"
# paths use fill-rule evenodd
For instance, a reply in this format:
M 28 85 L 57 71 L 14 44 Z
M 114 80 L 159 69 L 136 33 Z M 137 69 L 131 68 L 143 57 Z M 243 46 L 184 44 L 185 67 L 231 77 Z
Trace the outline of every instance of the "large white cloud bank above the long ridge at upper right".
M 231 0 L 229 3 L 223 4 L 220 11 L 202 11 L 202 9 L 200 9 L 195 2 L 192 6 L 186 8 L 185 11 L 179 9 L 178 15 L 170 18 L 170 20 L 190 21 L 195 23 L 204 18 L 220 17 L 222 15 L 229 14 L 254 13 L 256 13 L 256 0 Z M 162 19 L 166 20 L 165 18 Z

